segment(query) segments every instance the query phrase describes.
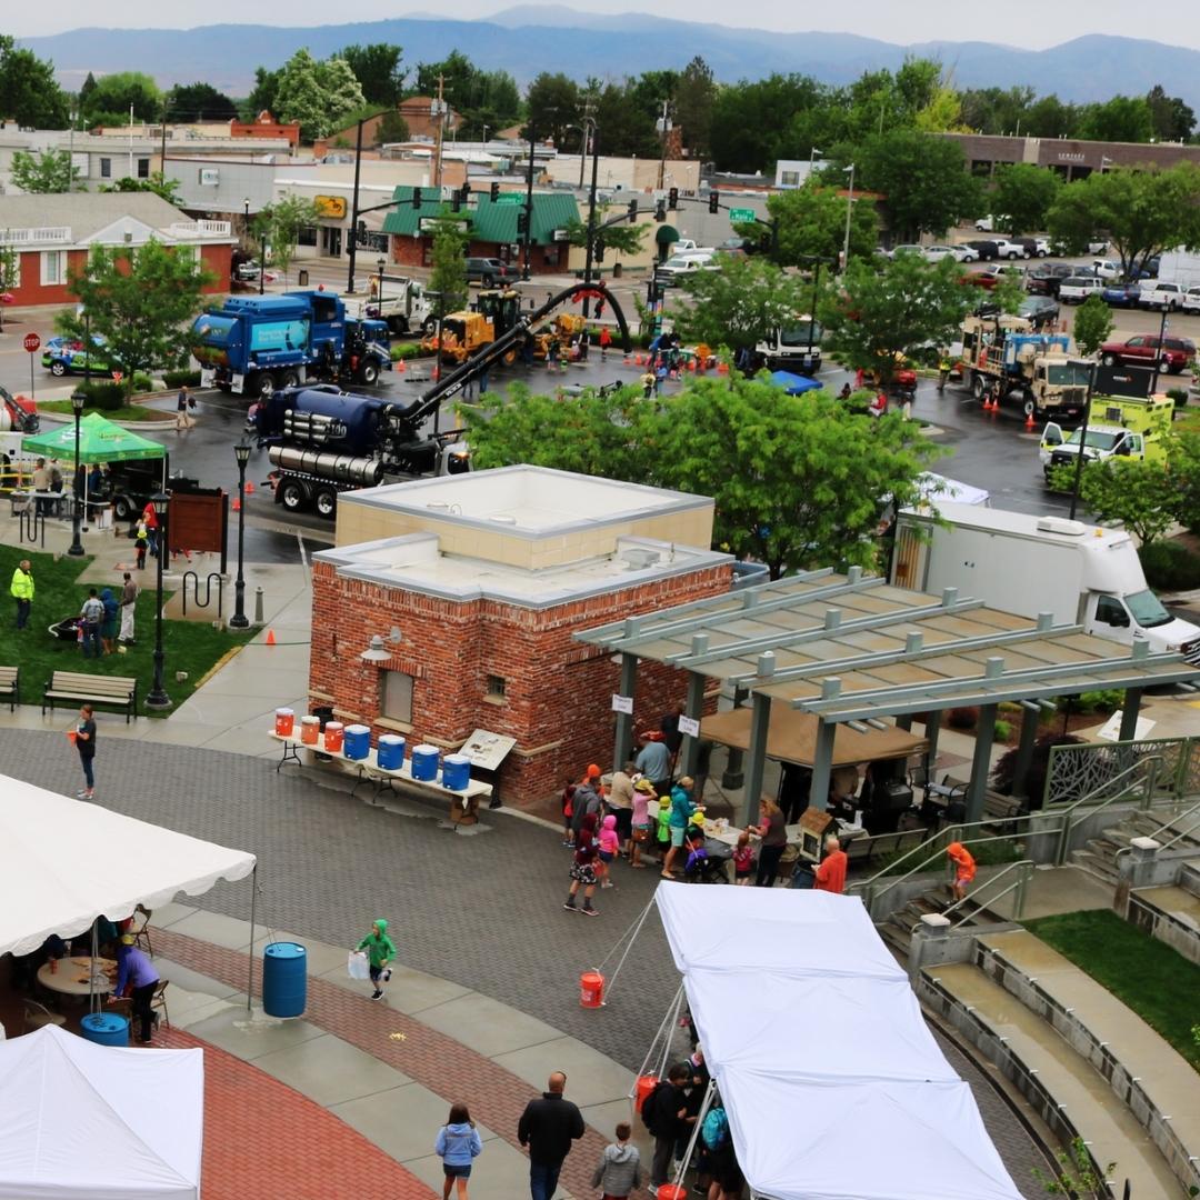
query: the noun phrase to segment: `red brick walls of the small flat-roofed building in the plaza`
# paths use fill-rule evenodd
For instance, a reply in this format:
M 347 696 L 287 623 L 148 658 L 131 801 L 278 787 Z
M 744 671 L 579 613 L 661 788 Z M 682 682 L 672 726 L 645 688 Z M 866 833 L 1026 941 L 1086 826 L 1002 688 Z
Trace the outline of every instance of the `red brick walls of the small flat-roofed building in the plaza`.
M 473 600 L 457 604 L 402 588 L 384 588 L 313 569 L 313 704 L 332 703 L 338 720 L 380 726 L 384 671 L 414 677 L 409 745 L 457 748 L 475 728 L 517 739 L 505 761 L 506 803 L 532 804 L 553 794 L 563 779 L 589 762 L 611 764 L 614 714 L 611 697 L 619 668 L 607 653 L 572 635 L 625 617 L 686 604 L 728 590 L 730 568 L 718 566 L 574 604 L 534 611 Z M 359 654 L 373 634 L 403 637 L 383 670 Z M 487 676 L 505 680 L 503 700 L 487 695 Z M 684 698 L 682 672 L 658 664 L 638 668 L 635 730 L 658 727 Z

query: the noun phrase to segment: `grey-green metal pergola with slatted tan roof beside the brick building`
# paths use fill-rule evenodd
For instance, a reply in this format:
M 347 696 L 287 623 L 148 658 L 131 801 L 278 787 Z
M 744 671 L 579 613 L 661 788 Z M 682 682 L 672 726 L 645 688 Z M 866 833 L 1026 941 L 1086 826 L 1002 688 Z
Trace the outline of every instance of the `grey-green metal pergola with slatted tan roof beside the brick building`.
M 1146 688 L 1200 684 L 1200 670 L 1181 654 L 1151 654 L 1145 642 L 1124 648 L 1055 625 L 988 608 L 982 600 L 947 588 L 942 595 L 889 586 L 851 568 L 808 571 L 726 595 L 630 617 L 576 638 L 620 655 L 620 691 L 636 690 L 637 662 L 666 662 L 688 673 L 686 714 L 701 718 L 709 680 L 749 695 L 750 740 L 745 766 L 745 812 L 757 811 L 767 758 L 773 703 L 817 716 L 809 803 L 824 809 L 834 734 L 840 724 L 857 732 L 887 728 L 893 718 L 908 728 L 925 716 L 930 761 L 937 750 L 942 713 L 979 707 L 966 820 L 983 815 L 996 708 L 1006 701 L 1037 712 L 1039 701 L 1096 689 L 1123 689 L 1122 740 L 1136 730 Z M 1018 766 L 1024 781 L 1037 721 L 1022 722 Z M 617 714 L 613 761 L 624 762 L 632 716 Z M 694 774 L 698 739 L 685 737 L 683 770 Z

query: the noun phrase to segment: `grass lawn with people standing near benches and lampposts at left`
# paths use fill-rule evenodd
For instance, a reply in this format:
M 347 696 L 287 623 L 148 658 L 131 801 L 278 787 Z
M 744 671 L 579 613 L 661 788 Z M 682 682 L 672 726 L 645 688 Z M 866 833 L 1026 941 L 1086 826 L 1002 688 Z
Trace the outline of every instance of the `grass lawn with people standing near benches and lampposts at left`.
M 29 625 L 18 632 L 16 628 L 16 601 L 12 600 L 10 584 L 12 572 L 22 558 L 28 558 L 34 575 L 34 607 Z M 5 602 L 7 607 L 0 616 L 0 666 L 20 667 L 20 697 L 26 704 L 41 704 L 42 690 L 54 671 L 88 671 L 95 674 L 133 676 L 138 680 L 139 714 L 156 715 L 146 709 L 142 701 L 154 680 L 154 614 L 155 614 L 155 572 L 151 570 L 154 559 L 146 559 L 144 571 L 134 571 L 138 587 L 137 617 L 134 634 L 137 644 L 125 654 L 109 654 L 101 659 L 84 659 L 77 646 L 60 641 L 47 632 L 48 626 L 79 612 L 88 598 L 90 586 L 86 570 L 90 558 L 62 557 L 58 563 L 53 554 L 34 554 L 13 546 L 0 546 L 0 580 L 4 581 Z M 80 574 L 85 582 L 76 582 Z M 97 590 L 113 587 L 101 577 L 95 580 Z M 164 593 L 166 595 L 166 593 Z M 210 623 L 191 620 L 164 620 L 162 623 L 162 644 L 166 655 L 163 674 L 167 695 L 176 706 L 187 700 L 196 690 L 208 670 L 227 652 L 248 640 L 247 634 L 232 634 L 223 629 L 214 629 Z M 175 672 L 186 671 L 184 683 L 175 682 Z M 168 713 L 170 710 L 168 709 Z M 167 714 L 161 714 L 167 715 Z M 61 713 L 64 728 L 70 714 Z

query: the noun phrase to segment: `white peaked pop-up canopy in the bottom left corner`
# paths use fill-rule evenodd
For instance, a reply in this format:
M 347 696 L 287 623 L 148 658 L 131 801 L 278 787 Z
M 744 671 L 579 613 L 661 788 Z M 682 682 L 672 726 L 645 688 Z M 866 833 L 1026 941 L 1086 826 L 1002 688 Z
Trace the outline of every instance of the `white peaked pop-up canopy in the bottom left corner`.
M 204 1051 L 0 1042 L 0 1200 L 198 1200 Z

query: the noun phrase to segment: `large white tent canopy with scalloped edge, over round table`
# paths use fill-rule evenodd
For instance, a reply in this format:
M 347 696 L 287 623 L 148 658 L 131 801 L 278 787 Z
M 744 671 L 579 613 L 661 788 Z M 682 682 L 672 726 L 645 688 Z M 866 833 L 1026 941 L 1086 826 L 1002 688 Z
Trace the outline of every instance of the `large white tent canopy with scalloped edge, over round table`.
M 64 853 L 64 847 L 73 847 Z M 76 937 L 180 892 L 240 880 L 254 856 L 0 775 L 0 954 L 29 954 L 50 934 Z

